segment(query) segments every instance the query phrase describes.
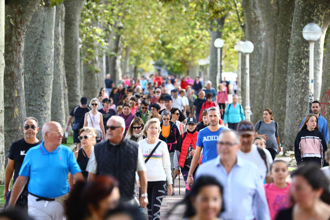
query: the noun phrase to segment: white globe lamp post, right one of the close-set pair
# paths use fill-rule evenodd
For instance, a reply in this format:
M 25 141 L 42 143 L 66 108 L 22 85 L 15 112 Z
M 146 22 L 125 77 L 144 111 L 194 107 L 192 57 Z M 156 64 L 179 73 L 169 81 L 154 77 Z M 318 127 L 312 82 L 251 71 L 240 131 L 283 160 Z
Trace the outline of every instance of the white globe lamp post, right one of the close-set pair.
M 245 41 L 242 44 L 242 52 L 245 53 L 245 66 L 246 66 L 246 107 L 245 107 L 245 119 L 251 121 L 251 107 L 250 107 L 250 72 L 249 72 L 249 55 L 252 53 L 254 46 L 251 41 Z

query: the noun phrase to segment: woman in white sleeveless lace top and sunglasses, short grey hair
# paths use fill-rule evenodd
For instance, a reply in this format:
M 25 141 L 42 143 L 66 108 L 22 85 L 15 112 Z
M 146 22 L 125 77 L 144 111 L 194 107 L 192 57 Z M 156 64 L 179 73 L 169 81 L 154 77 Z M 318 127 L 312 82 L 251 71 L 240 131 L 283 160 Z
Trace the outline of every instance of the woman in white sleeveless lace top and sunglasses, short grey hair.
M 99 100 L 97 98 L 92 98 L 89 103 L 89 107 L 92 109 L 85 114 L 85 119 L 83 126 L 92 127 L 96 130 L 96 142 L 105 140 L 105 130 L 103 124 L 103 115 L 97 110 L 99 106 Z

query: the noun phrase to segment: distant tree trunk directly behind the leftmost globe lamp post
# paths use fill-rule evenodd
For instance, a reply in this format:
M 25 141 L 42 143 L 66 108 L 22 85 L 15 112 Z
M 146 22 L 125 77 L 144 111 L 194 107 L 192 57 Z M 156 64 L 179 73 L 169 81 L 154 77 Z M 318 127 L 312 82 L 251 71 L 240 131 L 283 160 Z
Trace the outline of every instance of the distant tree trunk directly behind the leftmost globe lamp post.
M 211 35 L 211 44 L 210 44 L 210 79 L 204 79 L 204 82 L 207 80 L 210 80 L 212 82 L 212 87 L 216 90 L 216 75 L 218 73 L 218 66 L 217 66 L 217 59 L 218 59 L 218 52 L 217 48 L 214 46 L 214 41 L 217 38 L 221 38 L 222 32 L 221 29 L 223 27 L 223 24 L 225 22 L 227 15 L 224 15 L 220 18 L 216 19 L 216 25 L 213 25 L 213 20 L 210 24 L 210 35 Z M 213 31 L 213 28 L 216 28 L 216 31 Z M 221 74 L 221 73 L 220 73 Z M 220 79 L 221 81 L 221 79 Z M 219 81 L 219 82 L 220 82 Z

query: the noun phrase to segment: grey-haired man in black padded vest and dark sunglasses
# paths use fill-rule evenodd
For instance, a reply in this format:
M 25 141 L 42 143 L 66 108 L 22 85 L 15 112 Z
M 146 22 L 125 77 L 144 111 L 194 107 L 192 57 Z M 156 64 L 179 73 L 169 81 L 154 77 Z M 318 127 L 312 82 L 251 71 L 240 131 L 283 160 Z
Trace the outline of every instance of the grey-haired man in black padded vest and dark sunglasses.
M 135 141 L 124 139 L 125 121 L 119 116 L 112 116 L 106 126 L 107 141 L 94 146 L 88 160 L 86 171 L 88 181 L 96 175 L 112 175 L 119 181 L 120 199 L 134 204 L 135 172 L 138 172 L 141 185 L 140 206 L 148 204 L 146 164 L 142 152 Z

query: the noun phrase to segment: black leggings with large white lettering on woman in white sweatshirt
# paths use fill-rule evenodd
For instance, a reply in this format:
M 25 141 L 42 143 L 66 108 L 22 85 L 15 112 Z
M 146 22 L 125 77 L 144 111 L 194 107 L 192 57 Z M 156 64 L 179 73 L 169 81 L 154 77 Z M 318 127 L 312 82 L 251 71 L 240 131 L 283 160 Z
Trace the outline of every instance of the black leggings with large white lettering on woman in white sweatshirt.
M 165 193 L 166 181 L 148 181 L 148 200 L 147 204 L 149 220 L 160 219 L 160 205 L 162 204 Z

